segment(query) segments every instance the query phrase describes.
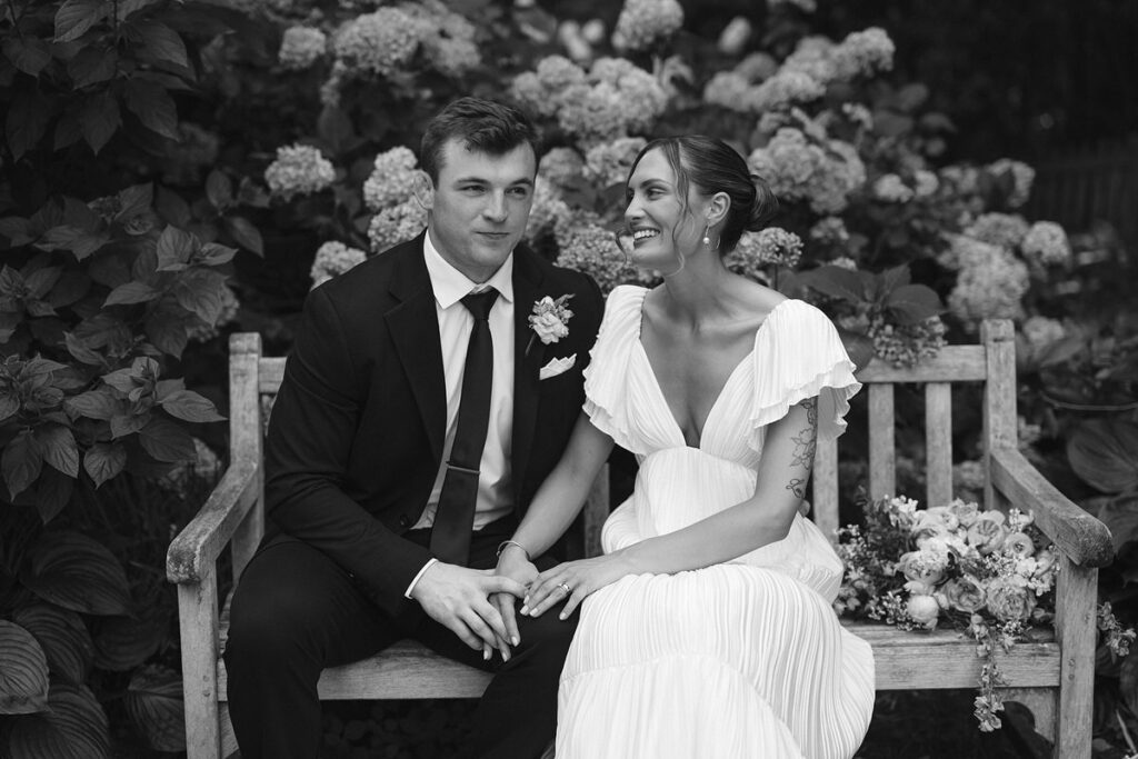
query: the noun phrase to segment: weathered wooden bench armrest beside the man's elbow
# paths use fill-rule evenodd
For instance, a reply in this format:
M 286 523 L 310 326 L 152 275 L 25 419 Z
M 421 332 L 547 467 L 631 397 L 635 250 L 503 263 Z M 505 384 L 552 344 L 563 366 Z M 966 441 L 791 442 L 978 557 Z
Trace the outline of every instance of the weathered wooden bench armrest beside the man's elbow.
M 233 462 L 206 500 L 201 511 L 170 544 L 166 578 L 171 583 L 200 583 L 205 568 L 217 561 L 241 520 L 256 501 L 261 464 Z

